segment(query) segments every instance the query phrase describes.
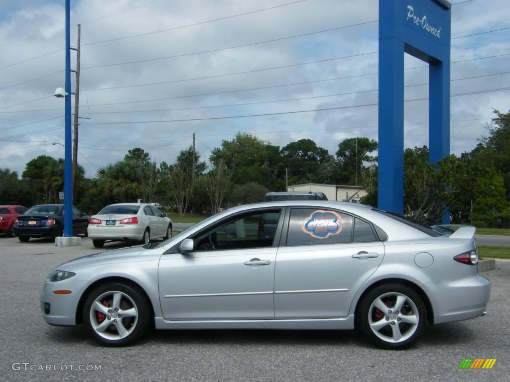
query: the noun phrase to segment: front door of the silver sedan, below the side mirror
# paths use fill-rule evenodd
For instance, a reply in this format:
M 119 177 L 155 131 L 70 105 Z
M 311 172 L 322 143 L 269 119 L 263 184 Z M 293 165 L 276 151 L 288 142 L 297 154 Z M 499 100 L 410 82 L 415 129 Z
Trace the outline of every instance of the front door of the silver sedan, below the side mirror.
M 273 219 L 278 214 L 279 229 L 266 230 L 266 213 Z M 158 276 L 164 318 L 274 318 L 274 261 L 282 225 L 281 208 L 251 210 L 225 217 L 190 236 L 192 252 L 167 251 Z

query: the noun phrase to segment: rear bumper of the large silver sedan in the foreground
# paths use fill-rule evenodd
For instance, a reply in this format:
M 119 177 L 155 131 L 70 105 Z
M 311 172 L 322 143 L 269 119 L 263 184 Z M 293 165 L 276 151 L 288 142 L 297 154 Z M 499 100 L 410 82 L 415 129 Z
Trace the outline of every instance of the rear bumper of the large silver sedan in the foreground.
M 422 286 L 431 296 L 434 323 L 469 320 L 487 311 L 491 282 L 483 276 Z

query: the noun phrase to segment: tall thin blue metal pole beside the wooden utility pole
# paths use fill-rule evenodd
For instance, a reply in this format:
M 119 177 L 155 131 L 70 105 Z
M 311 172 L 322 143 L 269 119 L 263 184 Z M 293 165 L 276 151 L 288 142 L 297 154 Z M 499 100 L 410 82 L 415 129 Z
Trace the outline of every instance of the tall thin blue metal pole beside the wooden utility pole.
M 71 153 L 71 26 L 70 0 L 65 2 L 65 137 L 64 137 L 64 237 L 72 237 Z

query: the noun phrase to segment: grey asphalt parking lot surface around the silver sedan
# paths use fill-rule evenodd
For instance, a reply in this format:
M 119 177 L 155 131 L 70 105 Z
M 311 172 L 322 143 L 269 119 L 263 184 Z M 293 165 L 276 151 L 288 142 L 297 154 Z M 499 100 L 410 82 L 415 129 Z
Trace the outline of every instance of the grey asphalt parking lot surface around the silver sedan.
M 47 325 L 39 307 L 49 272 L 94 252 L 88 238 L 80 247 L 60 248 L 51 240 L 21 243 L 0 236 L 0 380 L 510 380 L 507 261 L 497 261 L 496 269 L 483 274 L 492 281 L 487 316 L 429 326 L 417 346 L 405 351 L 374 348 L 354 331 L 160 331 L 133 347 L 106 348 L 89 339 L 82 326 Z M 491 370 L 460 370 L 464 358 L 497 362 Z M 100 370 L 78 370 L 97 366 Z

